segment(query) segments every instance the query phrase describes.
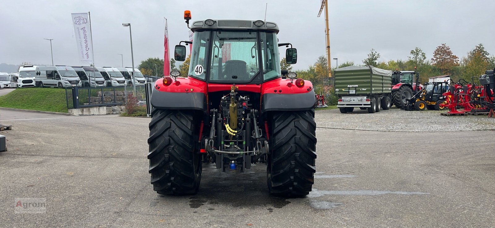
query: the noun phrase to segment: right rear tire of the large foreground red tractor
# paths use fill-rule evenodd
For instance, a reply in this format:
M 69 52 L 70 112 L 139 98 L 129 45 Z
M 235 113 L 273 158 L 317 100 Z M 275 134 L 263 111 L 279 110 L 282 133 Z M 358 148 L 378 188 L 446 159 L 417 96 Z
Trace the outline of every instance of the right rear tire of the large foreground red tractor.
M 314 110 L 277 112 L 271 119 L 268 190 L 279 196 L 307 195 L 316 172 Z

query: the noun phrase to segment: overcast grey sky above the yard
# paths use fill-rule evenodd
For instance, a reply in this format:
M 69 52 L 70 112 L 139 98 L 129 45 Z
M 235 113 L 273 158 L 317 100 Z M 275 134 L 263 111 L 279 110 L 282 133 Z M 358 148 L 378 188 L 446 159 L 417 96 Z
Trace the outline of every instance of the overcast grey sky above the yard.
M 170 47 L 188 39 L 184 10 L 193 21 L 205 19 L 263 20 L 280 27 L 280 42 L 297 48 L 295 69 L 304 69 L 325 54 L 321 0 L 2 0 L 0 63 L 81 65 L 70 13 L 91 11 L 97 67 L 131 66 L 131 23 L 134 64 L 163 58 L 163 17 L 168 18 Z M 459 57 L 483 43 L 495 54 L 493 0 L 330 0 L 331 58 L 361 64 L 371 48 L 380 61 L 407 59 L 418 46 L 428 59 L 446 43 Z M 189 50 L 189 49 L 188 49 Z M 281 53 L 285 53 L 284 50 Z M 170 55 L 172 56 L 172 55 Z M 332 60 L 332 66 L 335 60 Z

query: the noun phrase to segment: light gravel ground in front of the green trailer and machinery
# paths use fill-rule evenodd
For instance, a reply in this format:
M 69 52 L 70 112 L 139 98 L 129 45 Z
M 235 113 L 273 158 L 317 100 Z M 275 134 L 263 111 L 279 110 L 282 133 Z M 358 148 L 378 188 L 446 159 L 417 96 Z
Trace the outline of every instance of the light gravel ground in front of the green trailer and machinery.
M 317 127 L 376 131 L 445 131 L 495 129 L 486 115 L 443 116 L 446 111 L 404 111 L 397 108 L 369 114 L 366 110 L 342 114 L 338 109 L 316 111 Z

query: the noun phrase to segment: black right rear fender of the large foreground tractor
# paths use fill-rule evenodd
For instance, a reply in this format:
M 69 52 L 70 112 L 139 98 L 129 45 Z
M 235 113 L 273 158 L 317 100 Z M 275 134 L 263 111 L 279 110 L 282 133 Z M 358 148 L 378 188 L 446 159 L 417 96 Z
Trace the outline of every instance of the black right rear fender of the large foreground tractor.
M 294 94 L 265 93 L 261 98 L 261 112 L 311 110 L 316 104 L 314 90 Z

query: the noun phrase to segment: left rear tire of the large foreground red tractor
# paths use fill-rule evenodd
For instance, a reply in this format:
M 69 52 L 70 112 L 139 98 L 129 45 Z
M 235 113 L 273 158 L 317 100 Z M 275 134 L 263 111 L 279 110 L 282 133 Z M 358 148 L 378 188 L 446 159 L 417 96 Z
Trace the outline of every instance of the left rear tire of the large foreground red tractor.
M 201 156 L 195 151 L 197 121 L 191 111 L 153 109 L 149 123 L 149 173 L 158 194 L 195 194 Z

